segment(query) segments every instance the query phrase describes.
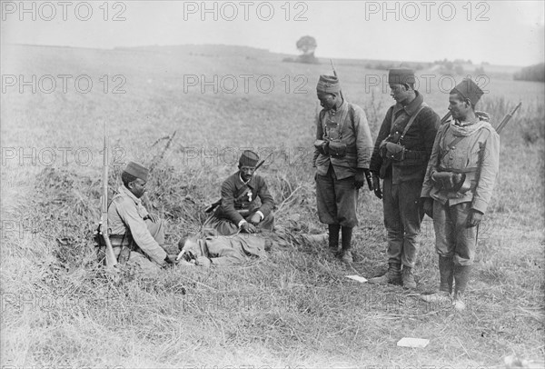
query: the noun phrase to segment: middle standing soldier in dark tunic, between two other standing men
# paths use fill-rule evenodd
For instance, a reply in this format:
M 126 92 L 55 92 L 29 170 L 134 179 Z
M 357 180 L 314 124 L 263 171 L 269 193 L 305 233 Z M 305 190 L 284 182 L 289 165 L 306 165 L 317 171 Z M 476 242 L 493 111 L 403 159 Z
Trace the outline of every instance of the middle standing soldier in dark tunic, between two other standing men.
M 405 288 L 415 288 L 412 268 L 423 217 L 419 199 L 440 118 L 414 89 L 411 69 L 391 69 L 388 83 L 396 104 L 386 113 L 371 158 L 374 193 L 384 207 L 388 271 L 369 282 L 402 282 Z M 379 177 L 384 180 L 383 193 Z

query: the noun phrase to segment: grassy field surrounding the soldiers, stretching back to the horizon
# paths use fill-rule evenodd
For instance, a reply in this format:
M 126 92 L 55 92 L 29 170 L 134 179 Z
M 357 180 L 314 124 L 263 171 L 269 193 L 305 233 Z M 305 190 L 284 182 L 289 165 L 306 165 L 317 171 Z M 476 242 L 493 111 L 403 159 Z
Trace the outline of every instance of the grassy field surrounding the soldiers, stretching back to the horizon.
M 260 171 L 277 203 L 277 224 L 292 234 L 325 232 L 311 157 L 315 84 L 330 65 L 281 63 L 279 55 L 227 46 L 9 46 L 2 54 L 3 78 L 17 78 L 13 86 L 3 80 L 0 116 L 3 367 L 488 368 L 510 354 L 544 359 L 543 84 L 483 80 L 490 92 L 478 107 L 493 123 L 523 105 L 501 134 L 500 176 L 481 226 L 469 306 L 460 314 L 401 287 L 345 278 L 372 277 L 386 266 L 381 202 L 368 191 L 360 194 L 352 267 L 325 244 L 299 243 L 240 267 L 175 268 L 156 278 L 115 279 L 96 264 L 89 239 L 99 218 L 104 121 L 110 188 L 127 161 L 158 163 L 148 205 L 168 220 L 172 244 L 199 230 L 203 208 L 245 147 L 274 153 Z M 376 137 L 392 103 L 381 81 L 386 72 L 336 67 L 344 94 L 365 108 Z M 425 74 L 431 84 L 421 92 L 444 115 L 449 80 L 440 88 L 441 75 Z M 34 94 L 21 75 L 36 76 Z M 50 94 L 45 75 L 56 81 Z M 58 75 L 73 76 L 65 92 Z M 78 91 L 74 80 L 82 75 Z M 93 87 L 83 93 L 88 80 Z M 438 287 L 433 241 L 426 218 L 418 293 Z M 430 344 L 397 347 L 404 336 Z

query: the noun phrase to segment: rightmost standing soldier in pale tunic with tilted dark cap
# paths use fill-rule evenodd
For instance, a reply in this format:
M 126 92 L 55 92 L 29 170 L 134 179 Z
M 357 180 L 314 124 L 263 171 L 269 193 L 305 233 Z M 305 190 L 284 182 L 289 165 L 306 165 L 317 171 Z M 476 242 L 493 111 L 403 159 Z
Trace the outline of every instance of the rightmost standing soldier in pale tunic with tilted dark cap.
M 486 113 L 475 112 L 482 95 L 464 79 L 449 96 L 453 122 L 441 126 L 422 187 L 424 211 L 433 215 L 439 254 L 440 291 L 422 294 L 427 302 L 465 309 L 462 299 L 475 257 L 482 215 L 490 202 L 500 165 L 500 136 Z

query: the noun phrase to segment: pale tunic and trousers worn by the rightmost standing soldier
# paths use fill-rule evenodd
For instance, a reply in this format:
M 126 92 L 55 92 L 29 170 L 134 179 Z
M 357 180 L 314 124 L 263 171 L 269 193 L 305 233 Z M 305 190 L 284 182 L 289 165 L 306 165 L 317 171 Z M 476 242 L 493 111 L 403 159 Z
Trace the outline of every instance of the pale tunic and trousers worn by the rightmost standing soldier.
M 435 139 L 421 196 L 433 202 L 436 251 L 453 257 L 454 264 L 471 265 L 477 244 L 477 227 L 468 227 L 471 210 L 484 214 L 500 170 L 500 136 L 488 122 L 488 115 L 476 113 L 469 125 L 442 125 Z M 457 137 L 462 137 L 457 140 Z M 458 142 L 456 143 L 455 140 Z M 452 191 L 435 184 L 435 172 L 463 173 L 466 191 Z

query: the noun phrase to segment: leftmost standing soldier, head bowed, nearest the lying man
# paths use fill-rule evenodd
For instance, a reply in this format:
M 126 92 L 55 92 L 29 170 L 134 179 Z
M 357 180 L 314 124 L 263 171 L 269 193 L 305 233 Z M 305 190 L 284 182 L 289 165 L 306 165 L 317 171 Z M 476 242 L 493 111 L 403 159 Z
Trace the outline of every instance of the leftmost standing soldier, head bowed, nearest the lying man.
M 312 166 L 320 221 L 328 224 L 329 247 L 338 252 L 342 229 L 344 263 L 352 263 L 352 228 L 358 224 L 358 190 L 369 172 L 372 138 L 365 112 L 342 99 L 337 77 L 321 75 L 316 86 L 323 109 L 317 116 Z M 368 175 L 368 173 L 367 173 Z

